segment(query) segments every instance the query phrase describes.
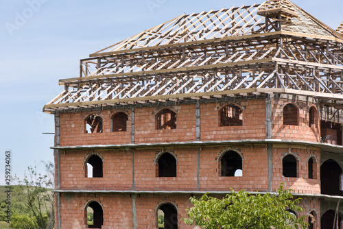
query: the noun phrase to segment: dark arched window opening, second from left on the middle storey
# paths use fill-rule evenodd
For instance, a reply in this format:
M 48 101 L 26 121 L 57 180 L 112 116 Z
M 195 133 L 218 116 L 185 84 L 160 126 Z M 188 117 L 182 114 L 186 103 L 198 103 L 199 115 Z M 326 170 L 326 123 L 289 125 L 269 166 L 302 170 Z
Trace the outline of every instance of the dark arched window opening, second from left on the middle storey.
M 170 178 L 176 177 L 176 159 L 169 153 L 163 154 L 158 158 L 158 177 Z

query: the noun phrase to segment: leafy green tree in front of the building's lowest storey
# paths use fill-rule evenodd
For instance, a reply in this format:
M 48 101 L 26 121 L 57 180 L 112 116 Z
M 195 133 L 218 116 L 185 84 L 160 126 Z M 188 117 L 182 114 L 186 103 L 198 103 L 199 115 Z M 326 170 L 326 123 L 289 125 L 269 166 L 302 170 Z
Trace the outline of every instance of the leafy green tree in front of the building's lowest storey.
M 225 198 L 203 195 L 200 200 L 191 197 L 193 208 L 188 210 L 186 224 L 196 224 L 204 229 L 284 229 L 307 228 L 305 217 L 296 218 L 289 213 L 303 211 L 296 204 L 291 190 L 280 186 L 278 195 L 250 195 L 246 191 L 231 191 Z

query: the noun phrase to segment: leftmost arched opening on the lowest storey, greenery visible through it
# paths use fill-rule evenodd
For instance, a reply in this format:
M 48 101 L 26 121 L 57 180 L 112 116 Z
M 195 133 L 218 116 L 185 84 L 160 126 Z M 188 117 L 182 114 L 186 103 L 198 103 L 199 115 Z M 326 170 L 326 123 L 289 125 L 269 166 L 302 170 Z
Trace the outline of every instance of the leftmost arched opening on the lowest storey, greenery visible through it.
M 104 212 L 98 202 L 91 202 L 85 209 L 86 225 L 88 228 L 102 228 L 104 224 Z

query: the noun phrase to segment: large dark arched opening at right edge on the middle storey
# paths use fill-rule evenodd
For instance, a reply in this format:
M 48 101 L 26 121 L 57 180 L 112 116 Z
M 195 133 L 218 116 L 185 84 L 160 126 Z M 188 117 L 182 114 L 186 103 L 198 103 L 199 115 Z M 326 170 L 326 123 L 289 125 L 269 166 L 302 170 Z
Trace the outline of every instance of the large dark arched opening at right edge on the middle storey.
M 342 169 L 335 160 L 329 159 L 320 167 L 320 189 L 322 194 L 340 195 Z

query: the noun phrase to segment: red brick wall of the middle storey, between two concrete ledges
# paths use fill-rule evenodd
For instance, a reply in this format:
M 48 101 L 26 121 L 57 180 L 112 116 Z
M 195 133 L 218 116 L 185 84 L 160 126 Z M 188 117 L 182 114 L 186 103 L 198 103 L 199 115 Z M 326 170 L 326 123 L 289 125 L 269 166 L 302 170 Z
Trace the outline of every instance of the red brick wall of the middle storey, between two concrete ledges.
M 320 193 L 320 152 L 303 146 L 274 145 L 273 191 L 281 183 L 296 193 Z M 159 178 L 154 158 L 159 149 L 134 152 L 134 182 L 137 191 L 190 191 L 197 190 L 198 148 L 169 149 L 177 157 L 177 176 Z M 244 159 L 242 177 L 222 177 L 220 153 L 229 150 L 241 152 Z M 297 178 L 283 177 L 282 158 L 287 154 L 298 158 Z M 60 187 L 76 190 L 132 190 L 132 152 L 118 150 L 99 152 L 104 158 L 104 177 L 86 178 L 84 158 L 88 151 L 68 151 L 60 155 Z M 314 179 L 308 178 L 308 159 L 314 156 Z M 268 191 L 268 152 L 265 144 L 230 147 L 204 147 L 200 151 L 200 191 Z

